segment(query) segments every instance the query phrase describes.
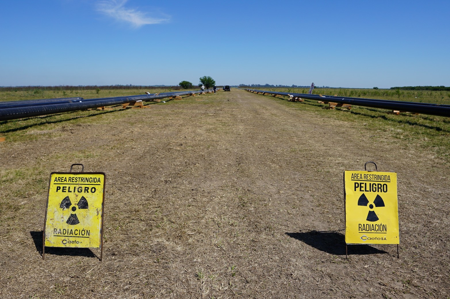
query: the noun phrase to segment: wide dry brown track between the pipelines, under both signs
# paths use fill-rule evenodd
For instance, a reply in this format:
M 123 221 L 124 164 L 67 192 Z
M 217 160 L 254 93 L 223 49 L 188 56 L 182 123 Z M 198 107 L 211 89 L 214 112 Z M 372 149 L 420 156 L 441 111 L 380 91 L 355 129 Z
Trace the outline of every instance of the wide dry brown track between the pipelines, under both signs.
M 0 297 L 450 298 L 448 164 L 301 105 L 233 89 L 1 143 L 2 174 L 43 178 L 0 195 Z M 367 161 L 398 173 L 400 259 L 394 245 L 345 259 L 342 173 Z M 107 175 L 103 262 L 40 256 L 49 174 L 72 163 Z

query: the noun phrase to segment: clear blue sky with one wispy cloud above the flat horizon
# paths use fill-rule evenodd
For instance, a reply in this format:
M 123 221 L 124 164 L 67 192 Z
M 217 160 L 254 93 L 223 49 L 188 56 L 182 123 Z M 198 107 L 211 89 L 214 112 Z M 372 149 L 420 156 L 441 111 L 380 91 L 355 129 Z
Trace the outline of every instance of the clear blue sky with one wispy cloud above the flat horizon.
M 212 3 L 211 3 L 212 2 Z M 450 1 L 4 0 L 0 86 L 450 86 Z

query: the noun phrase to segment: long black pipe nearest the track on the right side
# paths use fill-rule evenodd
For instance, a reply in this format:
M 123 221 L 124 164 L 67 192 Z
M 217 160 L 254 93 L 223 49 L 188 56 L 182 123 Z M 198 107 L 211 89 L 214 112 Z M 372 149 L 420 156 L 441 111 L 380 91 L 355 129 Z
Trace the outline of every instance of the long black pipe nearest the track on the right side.
M 279 95 L 287 95 L 287 92 L 269 92 L 269 91 L 262 91 L 262 90 L 254 90 L 254 89 L 247 89 L 247 91 L 252 92 L 265 92 L 269 94 L 279 94 Z M 429 104 L 429 105 L 423 105 L 427 103 L 414 103 L 414 104 L 405 104 L 403 102 L 386 102 L 386 101 L 378 101 L 375 99 L 349 99 L 345 97 L 317 97 L 310 94 L 303 94 L 303 93 L 296 93 L 295 96 L 301 97 L 304 99 L 309 100 L 322 100 L 322 101 L 331 101 L 335 103 L 342 103 L 342 104 L 350 104 L 350 105 L 356 105 L 356 106 L 365 106 L 365 107 L 372 107 L 372 108 L 381 108 L 381 109 L 388 109 L 388 110 L 399 110 L 399 111 L 408 111 L 408 112 L 414 112 L 414 113 L 421 113 L 421 114 L 429 114 L 429 115 L 437 115 L 437 116 L 445 116 L 450 117 L 450 106 L 442 106 L 438 104 Z

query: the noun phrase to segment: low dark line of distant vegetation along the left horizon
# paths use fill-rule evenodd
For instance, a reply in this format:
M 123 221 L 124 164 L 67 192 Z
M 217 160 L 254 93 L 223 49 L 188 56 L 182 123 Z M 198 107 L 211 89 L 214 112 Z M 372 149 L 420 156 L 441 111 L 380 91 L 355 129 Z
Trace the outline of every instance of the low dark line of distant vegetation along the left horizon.
M 59 85 L 59 86 L 2 86 L 0 91 L 33 91 L 36 88 L 40 90 L 97 90 L 97 89 L 157 89 L 157 88 L 170 88 L 172 90 L 181 89 L 180 86 L 170 86 L 170 85 Z

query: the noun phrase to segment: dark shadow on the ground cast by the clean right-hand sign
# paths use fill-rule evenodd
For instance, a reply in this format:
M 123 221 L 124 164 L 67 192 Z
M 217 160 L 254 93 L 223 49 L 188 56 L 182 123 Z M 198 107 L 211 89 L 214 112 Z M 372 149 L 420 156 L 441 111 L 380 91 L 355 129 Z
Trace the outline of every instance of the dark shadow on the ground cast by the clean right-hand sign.
M 345 236 L 337 231 L 309 230 L 301 233 L 286 233 L 289 237 L 302 241 L 315 249 L 332 255 L 345 255 Z M 387 253 L 369 245 L 349 245 L 348 255 L 371 255 Z

